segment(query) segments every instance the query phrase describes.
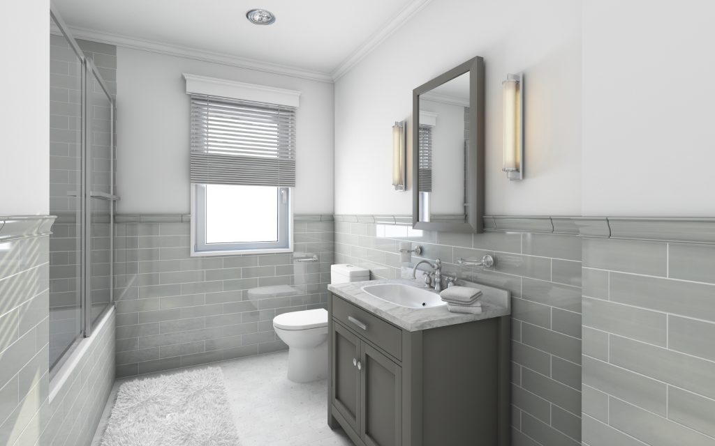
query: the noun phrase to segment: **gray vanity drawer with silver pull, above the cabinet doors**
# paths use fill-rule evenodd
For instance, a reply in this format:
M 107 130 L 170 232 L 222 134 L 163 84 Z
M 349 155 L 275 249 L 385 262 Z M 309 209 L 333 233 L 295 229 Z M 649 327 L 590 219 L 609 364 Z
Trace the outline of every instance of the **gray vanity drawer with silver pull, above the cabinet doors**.
M 352 303 L 332 295 L 332 317 L 402 360 L 402 330 Z

